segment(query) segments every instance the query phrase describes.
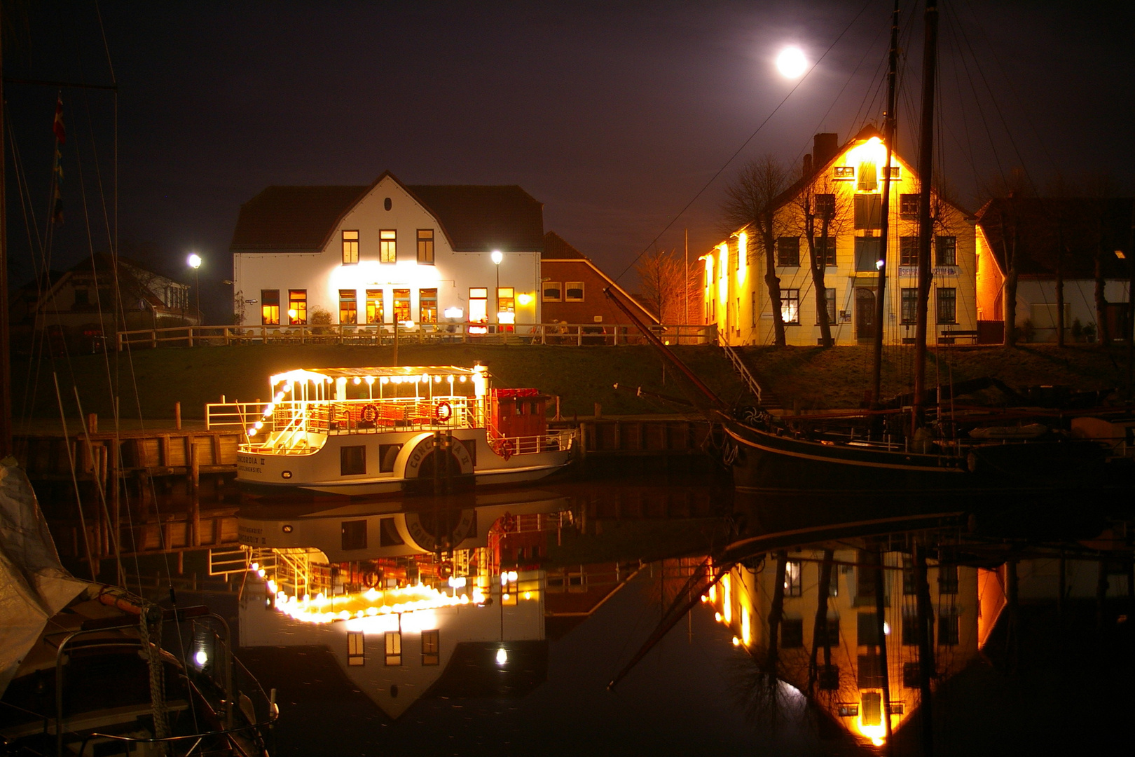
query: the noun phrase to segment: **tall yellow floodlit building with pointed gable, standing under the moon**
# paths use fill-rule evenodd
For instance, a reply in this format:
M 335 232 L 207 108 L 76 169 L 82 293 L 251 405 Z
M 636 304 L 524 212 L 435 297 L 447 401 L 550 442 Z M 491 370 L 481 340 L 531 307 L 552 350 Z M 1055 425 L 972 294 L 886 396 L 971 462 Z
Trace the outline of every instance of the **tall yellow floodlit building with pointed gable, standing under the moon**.
M 873 340 L 885 159 L 885 146 L 873 127 L 865 127 L 842 146 L 835 135 L 818 134 L 814 153 L 805 160 L 805 176 L 774 201 L 772 256 L 788 344 L 815 345 L 821 337 L 806 208 L 816 217 L 815 254 L 825 261 L 824 302 L 835 344 Z M 910 344 L 918 286 L 920 183 L 898 153 L 891 158 L 891 177 L 883 335 L 885 344 Z M 819 241 L 824 212 L 830 218 L 826 250 Z M 938 193 L 932 196 L 931 213 L 934 239 L 927 343 L 973 340 L 977 331 L 974 219 Z M 767 260 L 759 233 L 751 226 L 738 229 L 703 260 L 706 322 L 716 323 L 723 342 L 731 345 L 772 344 Z

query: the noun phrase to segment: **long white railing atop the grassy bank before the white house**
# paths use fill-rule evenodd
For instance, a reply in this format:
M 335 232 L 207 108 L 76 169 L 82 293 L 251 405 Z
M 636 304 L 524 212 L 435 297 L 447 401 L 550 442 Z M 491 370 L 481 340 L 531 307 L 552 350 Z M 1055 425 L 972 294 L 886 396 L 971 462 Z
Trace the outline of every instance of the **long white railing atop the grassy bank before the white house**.
M 661 325 L 650 330 L 667 344 L 716 344 L 716 325 Z M 118 331 L 118 350 L 242 344 L 547 344 L 615 346 L 647 344 L 637 326 L 614 323 L 426 323 L 394 326 L 178 326 Z

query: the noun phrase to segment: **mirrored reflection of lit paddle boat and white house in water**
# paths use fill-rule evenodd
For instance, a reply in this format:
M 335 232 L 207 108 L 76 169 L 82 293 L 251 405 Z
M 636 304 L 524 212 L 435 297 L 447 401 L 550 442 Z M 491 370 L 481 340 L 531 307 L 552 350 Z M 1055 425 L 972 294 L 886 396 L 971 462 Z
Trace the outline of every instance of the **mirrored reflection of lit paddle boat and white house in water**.
M 566 508 L 541 490 L 245 508 L 242 645 L 326 647 L 392 717 L 427 692 L 523 693 L 546 676 L 548 588 L 499 547 Z

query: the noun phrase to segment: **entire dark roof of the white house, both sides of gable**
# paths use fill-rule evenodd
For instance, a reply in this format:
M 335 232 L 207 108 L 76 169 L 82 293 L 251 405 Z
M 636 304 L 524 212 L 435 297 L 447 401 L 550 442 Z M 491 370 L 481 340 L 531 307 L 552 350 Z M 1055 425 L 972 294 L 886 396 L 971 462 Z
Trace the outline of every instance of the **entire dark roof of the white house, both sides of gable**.
M 398 180 L 389 173 L 378 180 L 386 176 Z M 241 205 L 229 251 L 318 252 L 375 184 L 270 186 Z M 402 186 L 438 219 L 456 252 L 544 249 L 544 205 L 516 185 Z

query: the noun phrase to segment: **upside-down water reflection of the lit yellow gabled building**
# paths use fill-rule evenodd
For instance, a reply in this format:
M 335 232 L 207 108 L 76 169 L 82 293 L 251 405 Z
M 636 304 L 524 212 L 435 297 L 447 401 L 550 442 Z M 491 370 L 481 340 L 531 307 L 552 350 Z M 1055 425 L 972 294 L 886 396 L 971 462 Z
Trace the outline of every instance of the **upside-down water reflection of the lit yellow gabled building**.
M 833 720 L 865 742 L 885 737 L 882 721 L 884 672 L 880 666 L 875 615 L 876 553 L 834 550 L 827 600 L 826 634 L 815 633 L 818 584 L 824 553 L 807 548 L 789 553 L 783 586 L 783 616 L 777 634 L 775 674 L 809 696 Z M 891 727 L 897 731 L 918 707 L 918 646 L 916 596 L 910 557 L 883 553 L 886 671 Z M 768 658 L 770 611 L 773 605 L 776 557 L 766 555 L 750 567 L 738 565 L 724 575 L 705 602 L 758 664 Z M 928 561 L 927 581 L 933 607 L 934 685 L 960 672 L 978 654 L 1004 604 L 993 571 Z M 981 609 L 978 607 L 981 606 Z M 809 658 L 816 647 L 816 673 Z

